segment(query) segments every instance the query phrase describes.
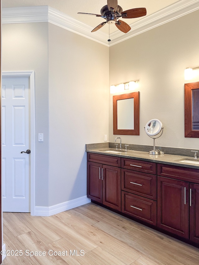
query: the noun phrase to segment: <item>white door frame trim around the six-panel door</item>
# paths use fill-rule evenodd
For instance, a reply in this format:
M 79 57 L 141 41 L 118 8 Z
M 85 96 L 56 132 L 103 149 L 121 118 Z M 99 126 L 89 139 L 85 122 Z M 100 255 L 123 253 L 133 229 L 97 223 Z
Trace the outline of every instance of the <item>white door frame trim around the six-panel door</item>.
M 2 78 L 30 78 L 30 215 L 35 215 L 35 71 L 2 71 Z

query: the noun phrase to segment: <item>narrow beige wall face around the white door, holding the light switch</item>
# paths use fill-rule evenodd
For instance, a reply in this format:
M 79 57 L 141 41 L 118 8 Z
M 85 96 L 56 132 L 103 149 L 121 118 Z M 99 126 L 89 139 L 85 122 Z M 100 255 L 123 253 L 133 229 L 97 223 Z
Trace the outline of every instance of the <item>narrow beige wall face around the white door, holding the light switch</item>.
M 2 25 L 2 71 L 35 71 L 35 203 L 48 206 L 48 23 Z

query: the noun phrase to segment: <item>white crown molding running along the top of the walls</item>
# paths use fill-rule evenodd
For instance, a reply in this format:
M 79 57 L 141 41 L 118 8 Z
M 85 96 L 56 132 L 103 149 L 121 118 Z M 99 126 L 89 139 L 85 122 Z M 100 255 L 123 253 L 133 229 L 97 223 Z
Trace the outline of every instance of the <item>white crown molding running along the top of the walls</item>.
M 113 32 L 109 43 L 108 34 L 100 30 L 91 33 L 92 27 L 49 6 L 2 8 L 2 24 L 49 22 L 103 45 L 112 46 L 198 9 L 199 0 L 180 0 L 132 23 L 131 30 L 126 34 L 119 30 Z

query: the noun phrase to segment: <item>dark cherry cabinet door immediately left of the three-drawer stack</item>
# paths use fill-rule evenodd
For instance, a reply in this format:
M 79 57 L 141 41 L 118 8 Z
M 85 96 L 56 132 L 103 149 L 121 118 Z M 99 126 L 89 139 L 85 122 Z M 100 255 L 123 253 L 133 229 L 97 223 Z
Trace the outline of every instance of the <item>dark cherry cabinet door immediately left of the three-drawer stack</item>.
M 121 169 L 103 165 L 103 204 L 121 211 Z

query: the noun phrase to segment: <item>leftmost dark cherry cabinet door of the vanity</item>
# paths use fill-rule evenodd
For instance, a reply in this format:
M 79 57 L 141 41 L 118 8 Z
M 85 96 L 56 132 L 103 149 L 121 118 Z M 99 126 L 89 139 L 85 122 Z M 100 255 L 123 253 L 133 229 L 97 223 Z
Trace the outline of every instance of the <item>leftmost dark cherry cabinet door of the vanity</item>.
M 87 197 L 102 203 L 102 165 L 94 162 L 87 162 Z

